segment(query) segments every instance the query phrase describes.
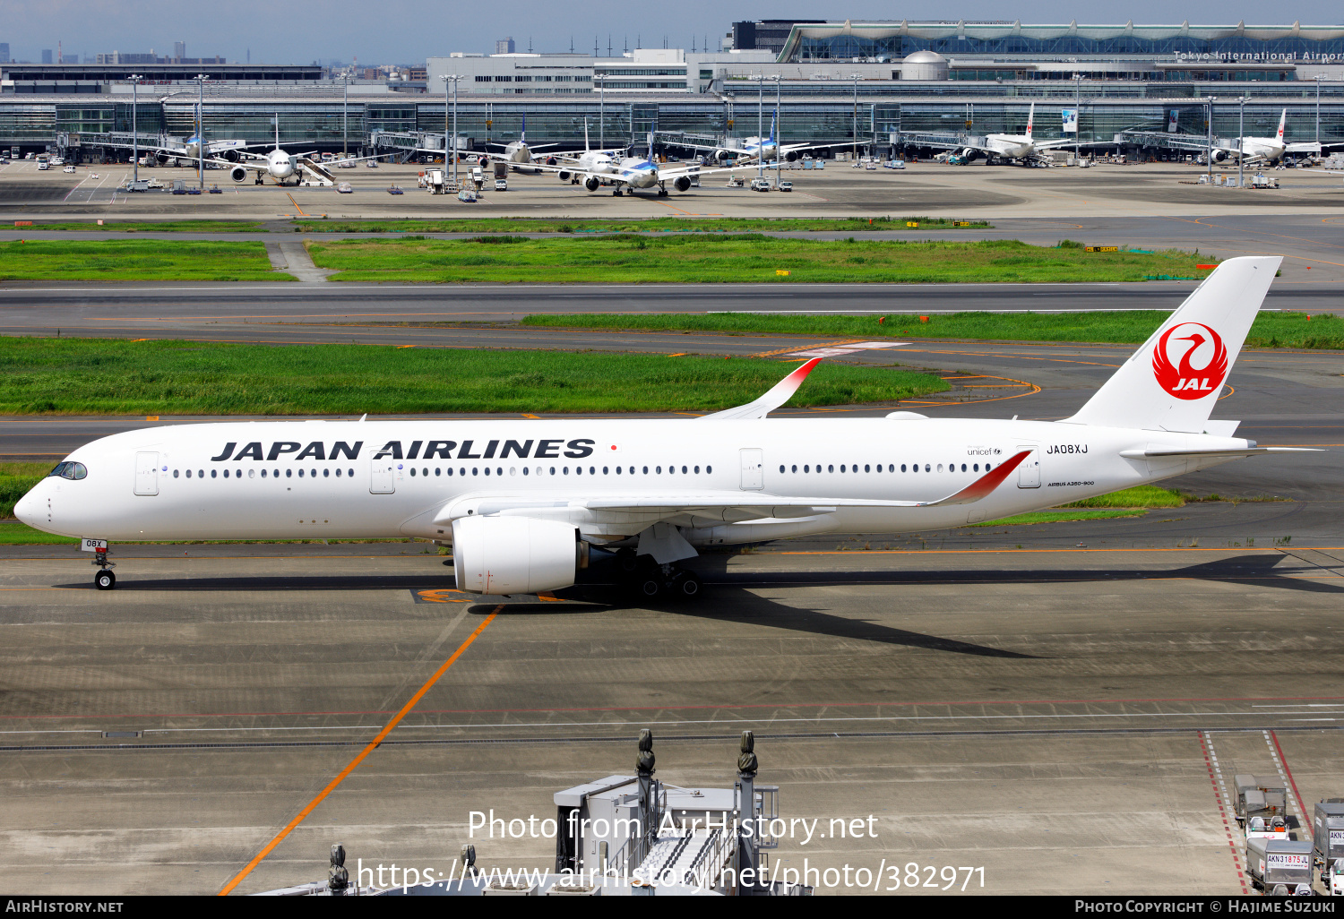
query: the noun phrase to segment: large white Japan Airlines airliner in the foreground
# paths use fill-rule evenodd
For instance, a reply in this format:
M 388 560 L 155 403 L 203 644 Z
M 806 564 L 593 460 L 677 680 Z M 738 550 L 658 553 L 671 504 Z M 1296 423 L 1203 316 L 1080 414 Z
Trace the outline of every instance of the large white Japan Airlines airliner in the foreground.
M 93 540 L 419 536 L 457 587 L 573 584 L 624 552 L 649 597 L 691 597 L 698 545 L 960 527 L 1262 453 L 1210 421 L 1278 257 L 1223 262 L 1078 414 L 1060 422 L 771 419 L 817 363 L 699 419 L 211 423 L 71 453 L 19 500 L 38 529 Z M 116 583 L 99 554 L 95 584 Z

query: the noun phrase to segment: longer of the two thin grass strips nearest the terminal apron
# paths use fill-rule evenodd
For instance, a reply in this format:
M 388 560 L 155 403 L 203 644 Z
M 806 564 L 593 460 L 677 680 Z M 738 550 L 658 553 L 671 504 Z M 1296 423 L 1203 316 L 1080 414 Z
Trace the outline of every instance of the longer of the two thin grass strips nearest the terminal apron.
M 919 226 L 911 227 L 910 223 Z M 481 218 L 457 220 L 294 220 L 305 232 L 918 232 L 969 227 L 984 230 L 988 220 L 929 216 L 853 218 Z

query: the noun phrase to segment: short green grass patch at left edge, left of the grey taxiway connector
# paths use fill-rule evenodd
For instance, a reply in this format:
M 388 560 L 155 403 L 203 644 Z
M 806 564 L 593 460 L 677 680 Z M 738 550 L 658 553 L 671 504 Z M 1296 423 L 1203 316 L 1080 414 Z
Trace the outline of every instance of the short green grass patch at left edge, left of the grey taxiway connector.
M 0 242 L 0 281 L 293 281 L 259 242 Z

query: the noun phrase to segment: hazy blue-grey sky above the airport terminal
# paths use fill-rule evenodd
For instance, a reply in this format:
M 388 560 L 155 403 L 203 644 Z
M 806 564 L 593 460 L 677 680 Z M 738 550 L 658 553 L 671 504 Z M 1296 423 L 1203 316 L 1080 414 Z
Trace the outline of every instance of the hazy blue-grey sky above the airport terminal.
M 575 15 L 575 11 L 579 11 Z M 930 12 L 937 11 L 937 12 Z M 634 47 L 711 46 L 734 20 L 788 19 L 1021 19 L 1025 23 L 1136 23 L 1167 24 L 1188 20 L 1223 24 L 1329 26 L 1344 23 L 1344 7 L 1335 0 L 1305 0 L 1278 7 L 1249 0 L 1199 0 L 1130 4 L 1079 4 L 1075 0 L 1031 0 L 1008 4 L 993 0 L 958 0 L 939 4 L 899 4 L 876 0 L 679 0 L 649 4 L 630 0 L 505 0 L 504 3 L 454 3 L 453 0 L 0 0 L 0 42 L 9 43 L 16 60 L 40 60 L 43 48 L 63 43 L 66 54 L 138 51 L 172 54 L 172 43 L 184 40 L 188 56 L 223 55 L 228 60 L 310 63 L 314 59 L 362 63 L 423 63 L 430 55 L 449 51 L 495 50 L 495 39 L 512 35 L 517 50 L 527 50 L 528 35 L 536 51 L 593 50 L 599 32 L 602 54 L 607 34 L 617 51 L 626 36 Z M 597 27 L 601 23 L 601 27 Z

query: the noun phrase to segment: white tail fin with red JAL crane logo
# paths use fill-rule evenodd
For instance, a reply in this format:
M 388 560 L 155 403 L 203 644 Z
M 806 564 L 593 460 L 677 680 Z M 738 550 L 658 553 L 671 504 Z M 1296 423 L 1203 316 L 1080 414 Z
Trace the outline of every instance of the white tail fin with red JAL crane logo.
M 1249 255 L 1219 265 L 1064 423 L 1216 433 L 1208 415 L 1282 261 Z

